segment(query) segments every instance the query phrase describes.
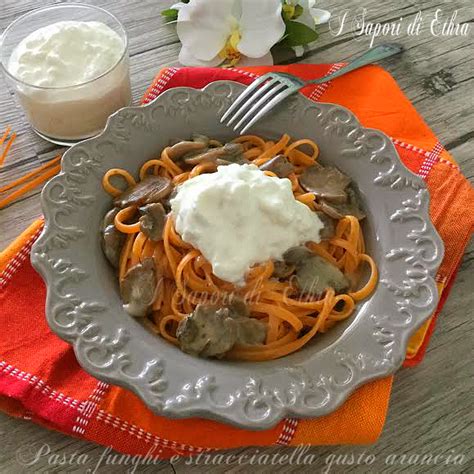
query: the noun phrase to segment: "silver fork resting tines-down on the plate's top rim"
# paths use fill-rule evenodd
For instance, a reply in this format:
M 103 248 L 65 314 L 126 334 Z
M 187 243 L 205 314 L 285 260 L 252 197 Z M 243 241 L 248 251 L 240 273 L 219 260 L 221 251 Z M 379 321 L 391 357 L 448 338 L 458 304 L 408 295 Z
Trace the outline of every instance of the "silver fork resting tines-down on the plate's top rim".
M 237 97 L 236 101 L 222 116 L 221 123 L 224 123 L 228 127 L 235 124 L 233 127 L 234 130 L 240 130 L 240 134 L 242 135 L 276 105 L 303 87 L 310 84 L 322 84 L 335 77 L 347 74 L 354 69 L 394 56 L 402 51 L 403 47 L 399 44 L 382 44 L 376 46 L 346 64 L 338 71 L 313 81 L 305 82 L 296 76 L 282 72 L 264 74 Z

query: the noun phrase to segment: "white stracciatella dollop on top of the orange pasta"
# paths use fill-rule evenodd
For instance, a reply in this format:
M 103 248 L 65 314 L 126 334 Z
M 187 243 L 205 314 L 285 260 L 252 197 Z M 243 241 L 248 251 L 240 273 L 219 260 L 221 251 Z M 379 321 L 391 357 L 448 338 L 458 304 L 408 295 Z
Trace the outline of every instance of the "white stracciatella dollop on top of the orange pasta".
M 255 165 L 219 166 L 178 187 L 171 200 L 177 232 L 199 249 L 222 280 L 242 285 L 253 265 L 319 242 L 323 224 L 297 201 L 288 179 Z

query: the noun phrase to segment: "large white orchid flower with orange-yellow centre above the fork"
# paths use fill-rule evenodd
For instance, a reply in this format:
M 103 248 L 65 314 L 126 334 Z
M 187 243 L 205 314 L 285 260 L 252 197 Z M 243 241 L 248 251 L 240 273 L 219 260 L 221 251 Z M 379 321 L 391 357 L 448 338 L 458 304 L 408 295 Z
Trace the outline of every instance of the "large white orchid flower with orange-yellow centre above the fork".
M 285 33 L 281 0 L 190 0 L 173 8 L 185 66 L 273 64 L 270 48 Z

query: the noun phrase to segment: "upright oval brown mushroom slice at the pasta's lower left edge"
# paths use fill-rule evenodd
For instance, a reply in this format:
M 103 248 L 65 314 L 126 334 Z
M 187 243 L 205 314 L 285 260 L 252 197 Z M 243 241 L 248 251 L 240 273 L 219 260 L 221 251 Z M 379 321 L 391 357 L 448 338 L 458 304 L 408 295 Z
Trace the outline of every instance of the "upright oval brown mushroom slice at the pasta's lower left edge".
M 157 283 L 155 262 L 152 258 L 146 258 L 143 263 L 130 268 L 120 285 L 125 311 L 131 316 L 146 316 L 155 298 Z

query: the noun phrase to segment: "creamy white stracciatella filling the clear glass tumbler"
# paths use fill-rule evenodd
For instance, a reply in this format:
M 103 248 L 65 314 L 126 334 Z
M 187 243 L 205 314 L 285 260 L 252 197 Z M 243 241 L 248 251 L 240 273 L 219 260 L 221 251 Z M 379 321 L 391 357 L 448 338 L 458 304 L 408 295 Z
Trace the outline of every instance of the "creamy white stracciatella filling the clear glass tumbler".
M 60 21 L 39 28 L 13 50 L 8 71 L 33 127 L 78 140 L 99 133 L 110 114 L 131 102 L 126 45 L 98 21 Z

